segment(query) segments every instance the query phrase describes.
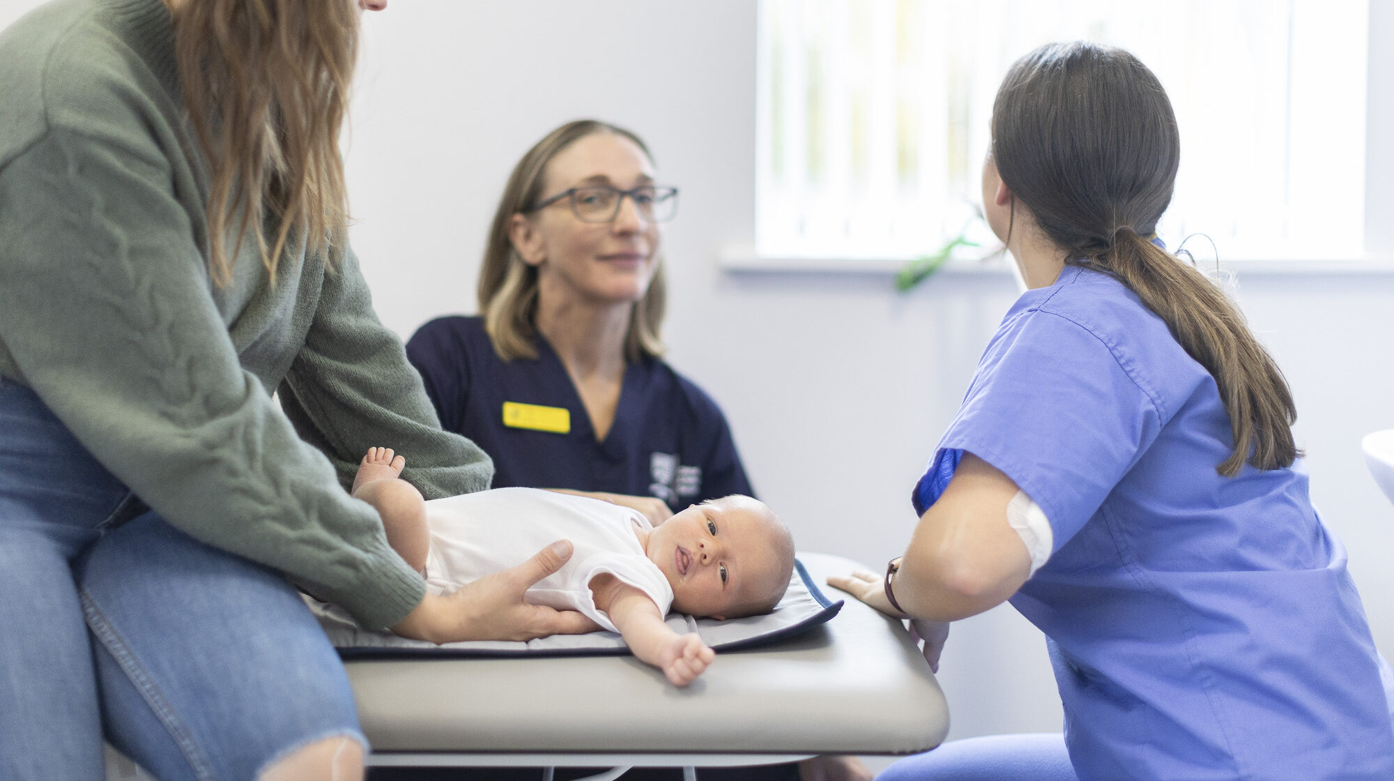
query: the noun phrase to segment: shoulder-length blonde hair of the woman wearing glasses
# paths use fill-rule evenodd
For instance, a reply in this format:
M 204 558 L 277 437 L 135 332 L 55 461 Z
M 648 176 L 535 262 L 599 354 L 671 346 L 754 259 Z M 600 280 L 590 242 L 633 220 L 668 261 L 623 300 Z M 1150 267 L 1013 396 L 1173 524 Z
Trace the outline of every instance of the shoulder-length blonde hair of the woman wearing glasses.
M 542 179 L 548 163 L 563 149 L 595 132 L 612 132 L 634 142 L 650 160 L 648 146 L 633 132 L 598 120 L 577 120 L 553 130 L 538 141 L 513 166 L 507 185 L 493 212 L 493 225 L 484 247 L 484 264 L 480 268 L 480 314 L 484 315 L 484 329 L 493 342 L 499 358 L 537 358 L 537 300 L 538 272 L 535 266 L 523 262 L 513 247 L 509 229 L 513 215 L 527 213 L 542 198 Z M 654 276 L 648 290 L 634 301 L 629 317 L 629 332 L 625 336 L 625 358 L 637 363 L 645 356 L 664 354 L 659 329 L 668 303 L 668 283 L 664 273 L 664 259 L 655 261 Z

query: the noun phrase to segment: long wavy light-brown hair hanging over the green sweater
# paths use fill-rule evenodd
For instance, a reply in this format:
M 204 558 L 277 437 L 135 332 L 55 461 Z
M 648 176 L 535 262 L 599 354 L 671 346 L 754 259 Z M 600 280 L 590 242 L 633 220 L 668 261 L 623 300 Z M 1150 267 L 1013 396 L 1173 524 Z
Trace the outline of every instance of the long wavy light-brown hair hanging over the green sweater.
M 357 7 L 185 0 L 173 21 L 184 103 L 209 165 L 213 282 L 231 279 L 248 232 L 272 280 L 286 245 L 300 238 L 333 266 L 348 222 L 339 130 L 357 59 Z

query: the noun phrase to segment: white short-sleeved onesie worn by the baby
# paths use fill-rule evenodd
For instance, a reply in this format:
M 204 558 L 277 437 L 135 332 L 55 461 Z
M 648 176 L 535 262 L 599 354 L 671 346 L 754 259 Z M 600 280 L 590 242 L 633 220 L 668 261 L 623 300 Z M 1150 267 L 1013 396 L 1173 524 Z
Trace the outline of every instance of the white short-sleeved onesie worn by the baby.
M 520 565 L 558 540 L 570 540 L 576 548 L 572 559 L 528 589 L 528 602 L 580 611 L 618 632 L 595 608 L 588 586 L 597 575 L 609 573 L 648 594 L 661 614 L 666 615 L 673 604 L 672 586 L 634 536 L 634 529 L 652 529 L 638 510 L 539 488 L 495 488 L 428 501 L 427 524 L 427 586 L 436 594 Z

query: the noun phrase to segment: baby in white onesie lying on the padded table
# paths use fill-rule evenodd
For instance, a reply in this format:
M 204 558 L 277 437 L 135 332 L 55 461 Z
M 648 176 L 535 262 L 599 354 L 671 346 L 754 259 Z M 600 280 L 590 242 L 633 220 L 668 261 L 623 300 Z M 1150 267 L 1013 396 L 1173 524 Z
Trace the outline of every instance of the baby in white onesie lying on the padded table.
M 669 607 L 717 619 L 769 612 L 793 572 L 789 530 L 750 496 L 693 505 L 655 527 L 637 510 L 539 488 L 428 502 L 399 477 L 404 464 L 390 449 L 371 448 L 353 495 L 376 508 L 388 543 L 429 589 L 450 593 L 567 538 L 572 559 L 528 589 L 527 600 L 619 632 L 676 686 L 691 683 L 715 654 L 698 635 L 664 622 Z

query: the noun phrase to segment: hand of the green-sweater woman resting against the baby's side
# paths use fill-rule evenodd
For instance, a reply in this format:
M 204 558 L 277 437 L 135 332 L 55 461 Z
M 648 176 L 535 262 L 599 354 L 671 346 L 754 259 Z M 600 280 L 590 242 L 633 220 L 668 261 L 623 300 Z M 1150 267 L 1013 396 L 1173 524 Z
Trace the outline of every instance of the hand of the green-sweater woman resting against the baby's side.
M 473 580 L 452 594 L 427 593 L 421 604 L 392 630 L 432 643 L 531 640 L 595 632 L 599 626 L 576 611 L 559 611 L 523 600 L 524 591 L 570 558 L 572 544 L 559 540 L 519 566 Z

